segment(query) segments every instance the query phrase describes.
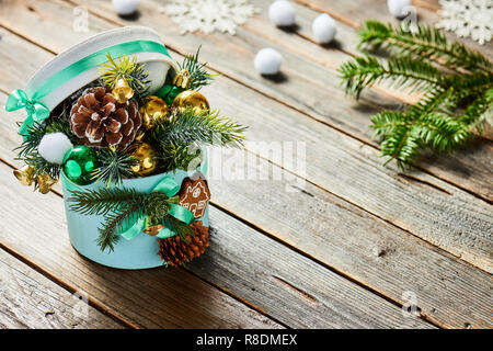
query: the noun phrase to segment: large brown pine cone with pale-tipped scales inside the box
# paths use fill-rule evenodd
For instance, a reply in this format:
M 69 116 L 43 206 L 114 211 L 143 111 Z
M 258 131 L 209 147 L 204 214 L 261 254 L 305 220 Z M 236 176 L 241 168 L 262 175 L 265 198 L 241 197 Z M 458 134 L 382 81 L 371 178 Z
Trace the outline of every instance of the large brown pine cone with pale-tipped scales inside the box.
M 70 126 L 81 144 L 117 146 L 119 150 L 134 141 L 142 124 L 136 101 L 118 103 L 110 88 L 90 88 L 72 105 Z

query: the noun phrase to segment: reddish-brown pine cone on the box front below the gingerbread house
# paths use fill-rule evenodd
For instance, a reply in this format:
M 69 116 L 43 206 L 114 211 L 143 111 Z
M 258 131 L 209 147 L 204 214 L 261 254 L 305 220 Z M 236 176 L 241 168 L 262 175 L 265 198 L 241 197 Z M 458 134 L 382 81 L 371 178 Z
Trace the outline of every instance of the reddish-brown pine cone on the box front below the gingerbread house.
M 200 220 L 191 224 L 195 236 L 186 236 L 185 241 L 180 236 L 159 239 L 159 256 L 168 265 L 177 267 L 199 257 L 209 246 L 209 228 Z

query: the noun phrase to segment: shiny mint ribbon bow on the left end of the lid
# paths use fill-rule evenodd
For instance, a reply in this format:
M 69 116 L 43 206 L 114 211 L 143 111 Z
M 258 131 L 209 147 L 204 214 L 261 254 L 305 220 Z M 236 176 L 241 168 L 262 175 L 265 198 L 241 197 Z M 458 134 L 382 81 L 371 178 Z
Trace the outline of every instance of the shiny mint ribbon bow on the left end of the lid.
M 15 89 L 7 99 L 5 110 L 8 112 L 25 109 L 27 111 L 27 117 L 22 123 L 19 134 L 27 135 L 30 127 L 33 126 L 34 122 L 43 122 L 49 117 L 49 110 L 41 102 L 35 100 L 30 100 L 27 94 L 21 89 Z

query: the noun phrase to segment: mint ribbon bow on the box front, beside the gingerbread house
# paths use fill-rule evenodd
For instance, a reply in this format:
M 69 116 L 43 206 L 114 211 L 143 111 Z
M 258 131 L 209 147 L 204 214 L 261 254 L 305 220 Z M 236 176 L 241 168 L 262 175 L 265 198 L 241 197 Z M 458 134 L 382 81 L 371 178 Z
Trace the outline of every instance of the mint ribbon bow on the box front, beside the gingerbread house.
M 173 177 L 164 177 L 153 189 L 151 192 L 159 191 L 168 195 L 169 204 L 170 204 L 170 211 L 168 212 L 169 215 L 173 216 L 174 218 L 185 223 L 191 224 L 195 220 L 194 214 L 183 207 L 176 204 L 177 197 L 174 196 L 180 190 L 180 184 L 176 183 L 176 181 L 173 179 Z M 174 197 L 173 197 L 174 196 Z M 146 229 L 146 219 L 147 216 L 139 216 L 133 225 L 119 235 L 124 237 L 127 240 L 134 239 L 137 235 L 139 235 L 144 229 Z M 175 233 L 170 228 L 163 228 L 159 230 L 159 234 L 157 235 L 158 238 L 168 238 L 174 236 Z

